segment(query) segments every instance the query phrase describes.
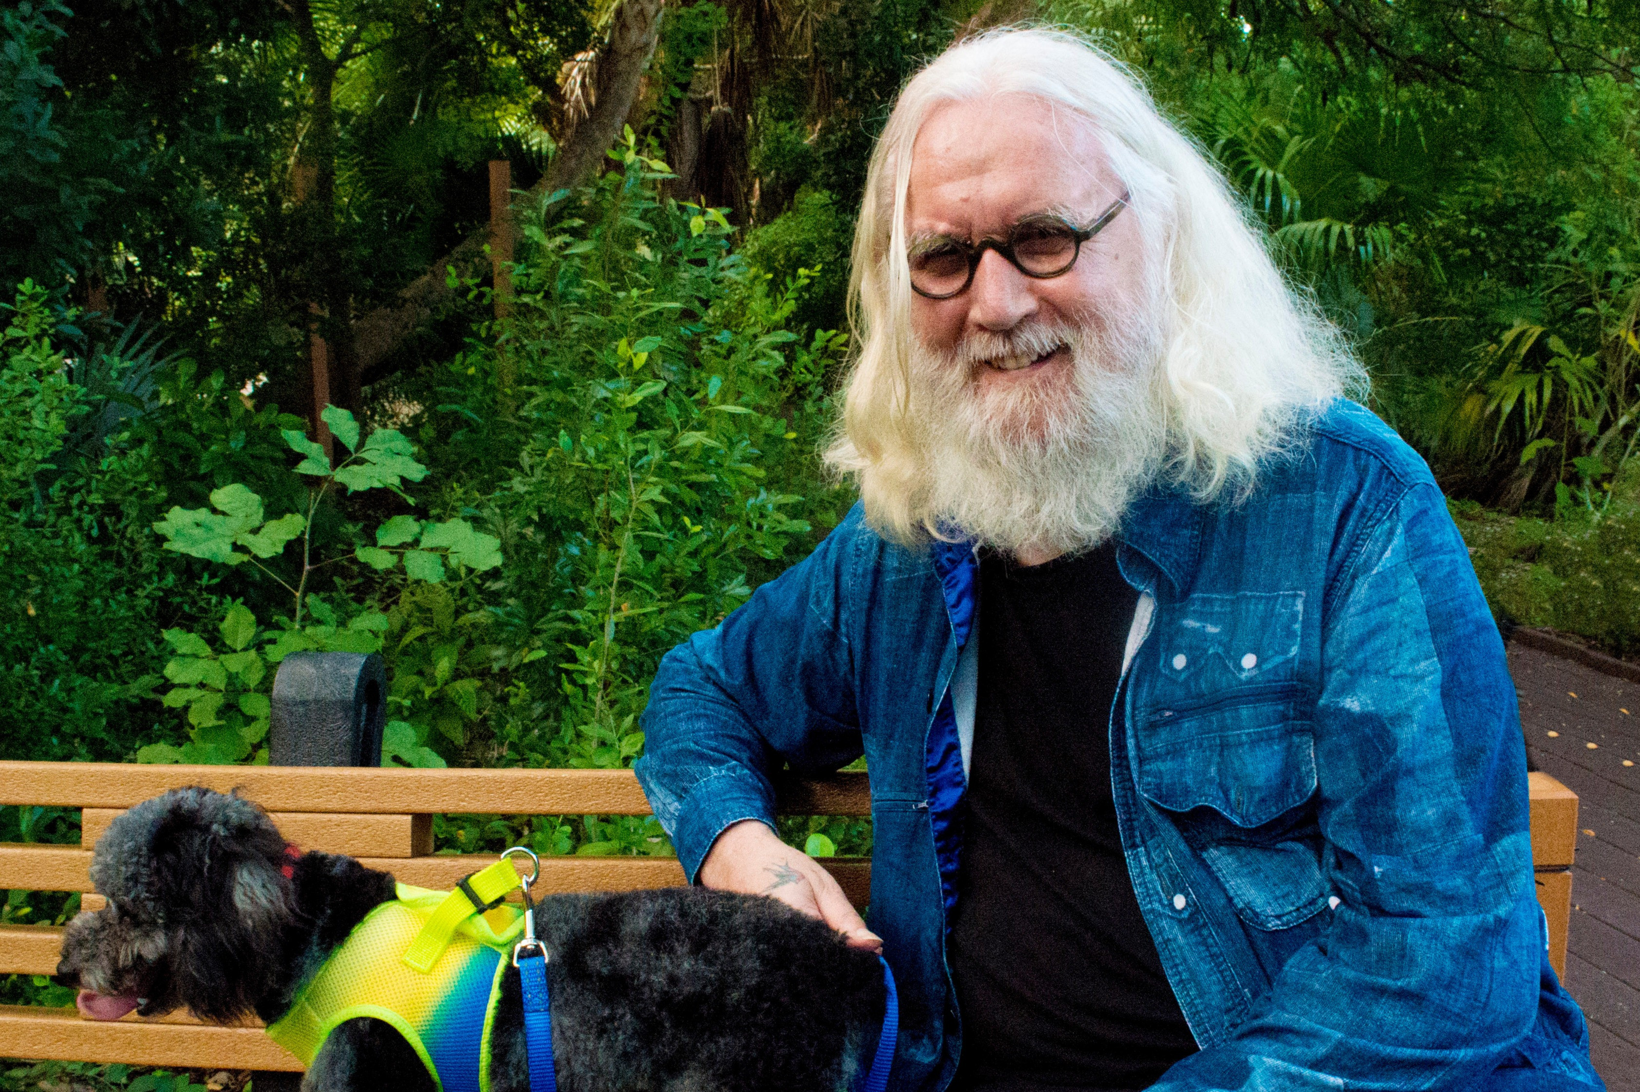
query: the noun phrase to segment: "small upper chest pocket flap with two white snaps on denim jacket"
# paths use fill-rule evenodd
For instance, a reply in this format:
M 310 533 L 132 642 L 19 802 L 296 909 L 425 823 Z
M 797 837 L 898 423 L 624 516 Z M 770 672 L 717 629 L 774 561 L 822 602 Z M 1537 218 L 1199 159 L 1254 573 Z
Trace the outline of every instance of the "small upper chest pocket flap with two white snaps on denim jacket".
M 1184 694 L 1297 677 L 1304 592 L 1191 595 L 1161 633 L 1161 677 Z

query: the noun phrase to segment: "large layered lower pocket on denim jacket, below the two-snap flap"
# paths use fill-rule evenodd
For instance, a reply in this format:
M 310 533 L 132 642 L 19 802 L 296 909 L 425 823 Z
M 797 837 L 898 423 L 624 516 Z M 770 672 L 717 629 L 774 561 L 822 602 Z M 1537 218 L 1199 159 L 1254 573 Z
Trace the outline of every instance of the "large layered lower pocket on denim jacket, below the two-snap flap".
M 1248 925 L 1291 928 L 1327 907 L 1322 838 L 1305 807 L 1317 787 L 1315 741 L 1297 685 L 1153 713 L 1140 731 L 1138 787 Z

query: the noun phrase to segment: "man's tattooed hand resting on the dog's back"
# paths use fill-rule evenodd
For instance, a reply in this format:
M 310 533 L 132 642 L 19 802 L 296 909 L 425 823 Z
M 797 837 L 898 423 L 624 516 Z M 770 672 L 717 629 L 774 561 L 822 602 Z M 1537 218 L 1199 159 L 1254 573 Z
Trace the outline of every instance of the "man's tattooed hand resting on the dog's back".
M 718 890 L 779 899 L 835 928 L 850 948 L 882 951 L 882 938 L 866 928 L 831 874 L 781 841 L 768 823 L 741 820 L 725 828 L 702 861 L 699 879 Z

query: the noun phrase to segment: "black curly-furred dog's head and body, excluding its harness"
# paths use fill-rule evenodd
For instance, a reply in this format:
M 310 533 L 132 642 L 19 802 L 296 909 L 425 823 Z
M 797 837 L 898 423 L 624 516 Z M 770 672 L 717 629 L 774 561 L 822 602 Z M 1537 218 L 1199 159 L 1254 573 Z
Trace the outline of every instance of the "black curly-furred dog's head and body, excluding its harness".
M 62 940 L 59 982 L 274 1021 L 394 877 L 344 856 L 294 862 L 249 800 L 177 789 L 131 808 L 97 843 L 92 880 L 108 905 Z M 553 953 L 553 1046 L 564 1092 L 841 1092 L 869 1066 L 886 989 L 871 953 L 818 921 L 749 895 L 704 889 L 551 895 L 536 933 Z M 530 1087 L 518 972 L 502 979 L 490 1059 L 495 1092 Z M 431 1092 L 408 1043 L 349 1020 L 303 1089 Z

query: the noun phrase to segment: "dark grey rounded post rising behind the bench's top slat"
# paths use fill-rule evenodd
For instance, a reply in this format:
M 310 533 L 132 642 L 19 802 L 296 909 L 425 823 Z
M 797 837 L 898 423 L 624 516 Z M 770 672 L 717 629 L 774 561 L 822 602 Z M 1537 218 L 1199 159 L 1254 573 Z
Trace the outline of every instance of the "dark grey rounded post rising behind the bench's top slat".
M 272 766 L 380 766 L 387 667 L 371 653 L 292 653 L 274 676 Z M 302 1074 L 253 1071 L 254 1092 L 298 1092 Z

